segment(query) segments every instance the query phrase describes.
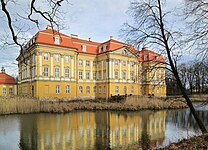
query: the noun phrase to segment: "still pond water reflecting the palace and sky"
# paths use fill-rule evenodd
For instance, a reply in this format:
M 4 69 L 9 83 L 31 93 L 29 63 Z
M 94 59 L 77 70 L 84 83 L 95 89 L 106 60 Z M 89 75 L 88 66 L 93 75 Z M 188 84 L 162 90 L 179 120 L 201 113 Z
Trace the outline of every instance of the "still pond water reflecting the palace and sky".
M 208 105 L 196 108 L 208 128 Z M 188 109 L 0 116 L 0 150 L 154 148 L 199 133 Z

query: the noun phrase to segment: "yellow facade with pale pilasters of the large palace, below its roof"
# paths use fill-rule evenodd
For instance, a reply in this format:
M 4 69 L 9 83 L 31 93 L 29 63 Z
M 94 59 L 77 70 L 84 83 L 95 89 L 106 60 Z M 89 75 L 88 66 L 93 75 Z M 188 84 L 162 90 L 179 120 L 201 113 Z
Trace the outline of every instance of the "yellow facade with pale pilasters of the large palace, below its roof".
M 118 94 L 166 95 L 165 84 L 150 84 L 146 81 L 150 79 L 144 81 L 142 72 L 149 64 L 139 62 L 139 56 L 128 47 L 91 54 L 79 52 L 76 46 L 70 48 L 31 41 L 24 57 L 17 58 L 20 95 L 67 99 L 109 98 Z M 81 40 L 78 46 L 93 48 L 89 41 L 86 43 Z M 150 73 L 146 74 L 150 78 Z M 152 92 L 153 87 L 157 92 Z

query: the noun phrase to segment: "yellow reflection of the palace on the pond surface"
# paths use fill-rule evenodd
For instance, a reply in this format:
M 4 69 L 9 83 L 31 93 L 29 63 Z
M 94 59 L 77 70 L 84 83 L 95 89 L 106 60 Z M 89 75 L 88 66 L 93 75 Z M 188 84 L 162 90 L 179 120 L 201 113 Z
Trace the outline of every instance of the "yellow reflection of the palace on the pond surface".
M 166 111 L 73 112 L 21 118 L 21 149 L 113 149 L 161 145 Z M 145 136 L 144 136 L 145 135 Z M 144 138 L 146 137 L 146 138 Z

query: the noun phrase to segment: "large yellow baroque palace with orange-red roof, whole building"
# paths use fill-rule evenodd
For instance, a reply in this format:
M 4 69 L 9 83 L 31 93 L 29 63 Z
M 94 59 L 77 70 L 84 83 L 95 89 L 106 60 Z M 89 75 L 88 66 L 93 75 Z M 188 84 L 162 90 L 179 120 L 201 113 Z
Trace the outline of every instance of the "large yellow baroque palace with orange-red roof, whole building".
M 18 61 L 18 94 L 37 98 L 166 96 L 165 61 L 147 48 L 65 35 L 50 26 L 25 45 Z

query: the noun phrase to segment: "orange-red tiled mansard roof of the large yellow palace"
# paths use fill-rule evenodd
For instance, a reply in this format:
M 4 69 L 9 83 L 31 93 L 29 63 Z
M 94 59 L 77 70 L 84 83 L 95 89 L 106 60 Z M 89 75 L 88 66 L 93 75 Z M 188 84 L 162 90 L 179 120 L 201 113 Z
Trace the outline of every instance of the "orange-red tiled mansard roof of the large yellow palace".
M 57 36 L 57 35 L 60 36 L 60 40 L 61 40 L 60 44 L 54 44 L 54 36 Z M 138 51 L 132 45 L 129 45 L 129 44 L 126 44 L 126 43 L 123 43 L 123 42 L 120 42 L 120 41 L 117 41 L 114 39 L 110 39 L 106 42 L 99 43 L 99 42 L 94 42 L 91 40 L 83 40 L 83 39 L 79 39 L 76 37 L 71 37 L 71 36 L 59 33 L 59 32 L 52 30 L 52 29 L 46 29 L 46 30 L 39 31 L 36 34 L 36 43 L 73 48 L 79 53 L 92 54 L 92 55 L 104 53 L 103 49 L 101 52 L 99 52 L 99 48 L 103 47 L 104 45 L 107 46 L 106 52 L 114 51 L 114 50 L 117 50 L 119 48 L 126 46 L 133 53 L 140 56 L 139 61 L 144 61 L 143 55 L 148 55 L 148 59 L 145 61 L 165 62 L 162 55 L 159 55 L 159 54 L 157 54 L 153 51 L 150 51 L 148 49 L 142 49 L 141 51 Z M 86 46 L 86 52 L 82 51 L 83 45 Z M 159 59 L 156 60 L 155 56 L 158 56 Z

